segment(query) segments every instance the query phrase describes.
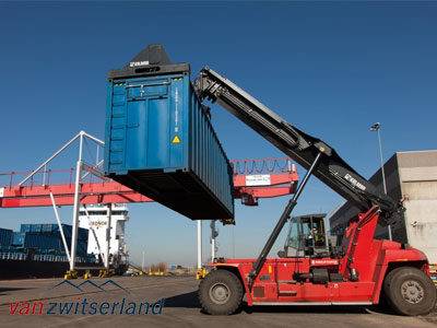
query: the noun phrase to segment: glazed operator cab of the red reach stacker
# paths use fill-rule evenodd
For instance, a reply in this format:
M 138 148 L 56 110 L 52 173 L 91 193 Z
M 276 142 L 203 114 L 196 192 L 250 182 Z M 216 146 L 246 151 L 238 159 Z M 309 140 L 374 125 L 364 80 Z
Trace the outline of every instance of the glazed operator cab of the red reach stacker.
M 281 258 L 286 257 L 323 257 L 329 256 L 329 243 L 324 229 L 324 213 L 293 216 L 284 249 L 277 251 Z

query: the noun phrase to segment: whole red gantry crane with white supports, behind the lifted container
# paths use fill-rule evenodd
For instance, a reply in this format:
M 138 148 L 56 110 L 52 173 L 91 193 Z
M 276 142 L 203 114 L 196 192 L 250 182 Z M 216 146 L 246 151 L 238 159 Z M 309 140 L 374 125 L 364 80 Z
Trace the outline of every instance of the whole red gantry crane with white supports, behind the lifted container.
M 94 165 L 84 161 L 83 148 L 86 140 L 91 140 L 97 145 L 96 164 Z M 69 169 L 49 168 L 52 161 L 70 148 L 74 141 L 79 141 L 76 167 Z M 0 174 L 2 186 L 0 187 L 0 208 L 54 207 L 55 215 L 58 224 L 60 224 L 56 207 L 73 206 L 72 223 L 73 226 L 78 226 L 79 206 L 154 201 L 103 175 L 99 171 L 103 161 L 98 161 L 98 153 L 102 152 L 103 145 L 103 141 L 81 131 L 36 169 Z M 298 180 L 296 165 L 292 164 L 287 157 L 234 160 L 232 164 L 234 167 L 234 197 L 241 199 L 241 203 L 245 206 L 258 206 L 260 198 L 291 195 L 296 189 Z M 110 207 L 108 208 L 110 209 Z M 74 260 L 75 242 L 76 236 L 73 233 L 71 250 L 68 251 L 67 245 L 64 245 L 70 260 L 70 270 L 66 277 L 73 278 L 76 276 L 75 270 L 81 269 Z M 200 247 L 199 244 L 198 248 Z M 200 258 L 198 258 L 198 262 L 200 261 Z M 108 262 L 105 265 L 106 269 L 108 269 L 107 266 Z

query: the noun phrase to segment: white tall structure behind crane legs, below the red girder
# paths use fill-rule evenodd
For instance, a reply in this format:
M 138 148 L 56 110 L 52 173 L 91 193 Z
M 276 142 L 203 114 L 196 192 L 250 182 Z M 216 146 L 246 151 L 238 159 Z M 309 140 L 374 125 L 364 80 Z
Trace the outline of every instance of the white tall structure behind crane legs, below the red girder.
M 79 226 L 90 231 L 87 253 L 94 254 L 96 258 L 101 255 L 105 266 L 109 263 L 117 267 L 126 263 L 128 257 L 125 241 L 125 224 L 129 220 L 128 207 L 114 203 L 110 210 L 109 215 L 109 206 L 81 207 Z

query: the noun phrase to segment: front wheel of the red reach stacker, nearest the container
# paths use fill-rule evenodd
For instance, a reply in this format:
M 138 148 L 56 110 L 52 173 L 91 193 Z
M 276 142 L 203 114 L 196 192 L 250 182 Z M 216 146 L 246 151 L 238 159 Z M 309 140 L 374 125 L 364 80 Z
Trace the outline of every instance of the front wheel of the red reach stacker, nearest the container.
M 243 302 L 241 282 L 227 270 L 211 271 L 199 284 L 199 302 L 208 314 L 234 314 Z

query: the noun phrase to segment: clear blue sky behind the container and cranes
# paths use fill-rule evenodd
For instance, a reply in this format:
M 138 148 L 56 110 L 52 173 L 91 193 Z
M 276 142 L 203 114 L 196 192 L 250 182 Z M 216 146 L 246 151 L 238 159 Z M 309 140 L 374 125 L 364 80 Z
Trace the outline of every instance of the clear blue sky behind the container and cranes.
M 430 2 L 2 2 L 0 172 L 34 168 L 81 129 L 103 138 L 107 71 L 162 43 L 174 61 L 190 62 L 193 73 L 204 65 L 217 70 L 370 176 L 378 166 L 368 131 L 375 121 L 386 159 L 436 148 L 436 33 Z M 212 110 L 231 159 L 282 156 L 223 109 Z M 235 245 L 236 256 L 256 256 L 285 202 L 237 204 L 237 225 L 220 229 L 218 254 L 233 256 Z M 314 180 L 296 213 L 341 202 Z M 194 222 L 160 204 L 130 210 L 133 260 L 145 249 L 146 262 L 196 262 Z M 71 208 L 61 215 L 69 222 Z M 55 222 L 50 209 L 0 210 L 0 219 L 12 229 Z

